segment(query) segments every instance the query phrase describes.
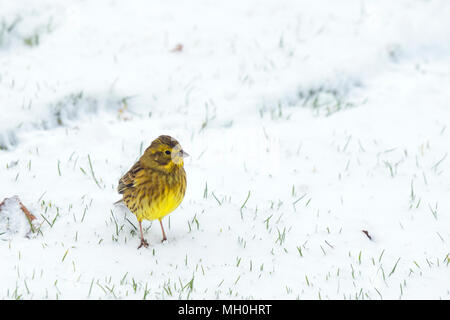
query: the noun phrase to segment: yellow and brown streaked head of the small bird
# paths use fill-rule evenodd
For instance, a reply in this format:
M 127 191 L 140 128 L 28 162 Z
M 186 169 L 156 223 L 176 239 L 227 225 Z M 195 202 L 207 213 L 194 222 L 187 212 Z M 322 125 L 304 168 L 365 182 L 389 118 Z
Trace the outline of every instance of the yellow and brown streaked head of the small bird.
M 144 165 L 163 171 L 170 171 L 174 167 L 182 167 L 183 159 L 189 156 L 177 140 L 170 136 L 159 136 L 152 141 L 142 155 Z

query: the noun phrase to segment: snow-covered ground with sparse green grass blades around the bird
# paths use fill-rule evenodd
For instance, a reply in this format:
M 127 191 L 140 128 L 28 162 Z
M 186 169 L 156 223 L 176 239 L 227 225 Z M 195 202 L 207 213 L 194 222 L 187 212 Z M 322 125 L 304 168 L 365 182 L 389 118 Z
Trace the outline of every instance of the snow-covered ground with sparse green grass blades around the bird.
M 449 299 L 449 16 L 1 0 L 0 201 L 40 230 L 0 212 L 0 298 Z M 116 187 L 160 134 L 188 188 L 137 250 Z

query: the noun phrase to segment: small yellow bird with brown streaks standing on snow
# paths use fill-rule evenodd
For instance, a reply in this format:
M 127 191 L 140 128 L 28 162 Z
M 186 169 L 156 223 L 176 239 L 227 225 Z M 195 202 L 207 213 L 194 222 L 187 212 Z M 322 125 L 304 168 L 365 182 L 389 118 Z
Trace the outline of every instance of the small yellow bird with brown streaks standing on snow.
M 123 202 L 136 215 L 141 232 L 141 244 L 148 247 L 142 233 L 142 220 L 158 219 L 163 239 L 167 240 L 162 218 L 175 210 L 186 192 L 186 172 L 183 151 L 177 140 L 159 136 L 141 158 L 119 180 L 117 191 Z

